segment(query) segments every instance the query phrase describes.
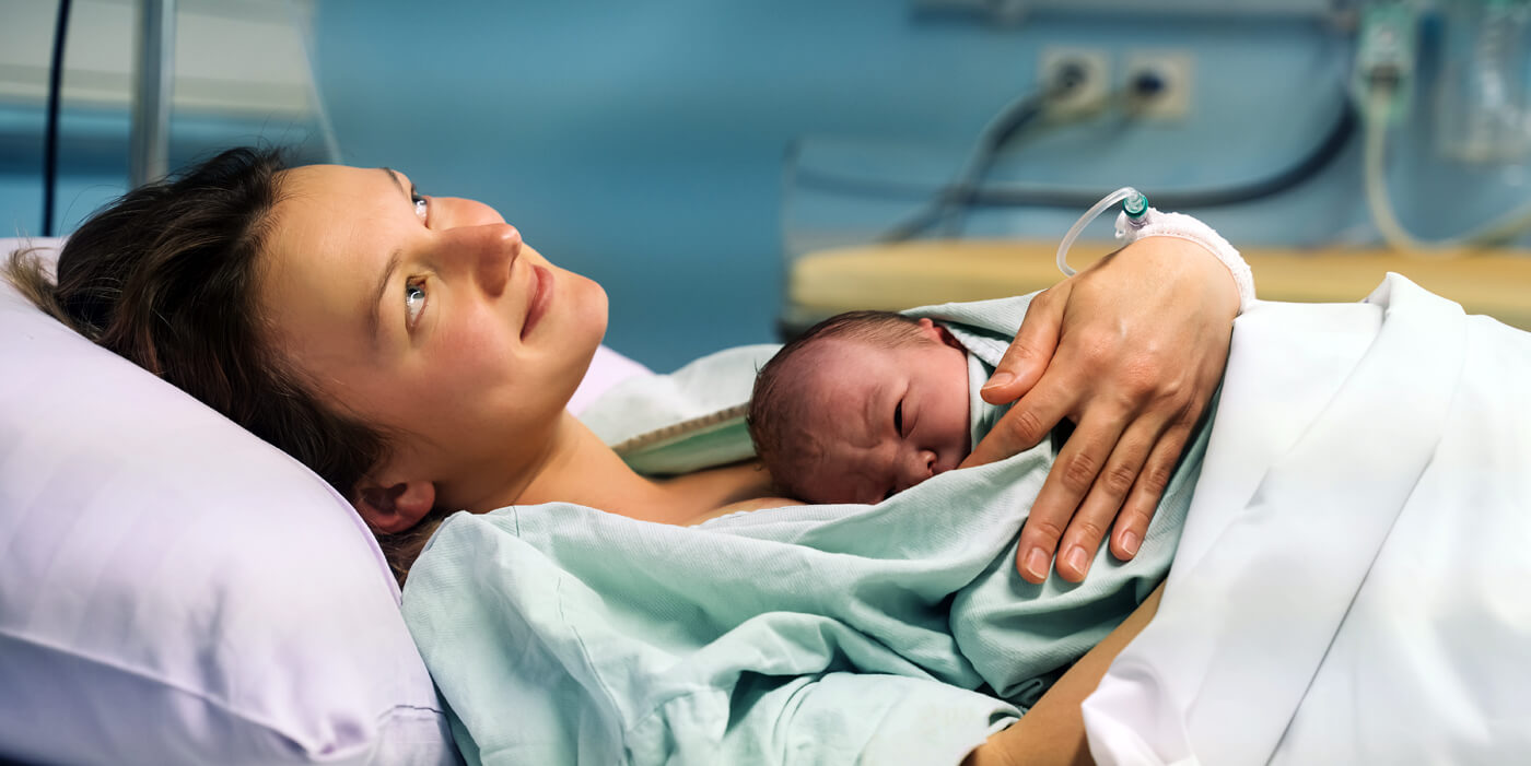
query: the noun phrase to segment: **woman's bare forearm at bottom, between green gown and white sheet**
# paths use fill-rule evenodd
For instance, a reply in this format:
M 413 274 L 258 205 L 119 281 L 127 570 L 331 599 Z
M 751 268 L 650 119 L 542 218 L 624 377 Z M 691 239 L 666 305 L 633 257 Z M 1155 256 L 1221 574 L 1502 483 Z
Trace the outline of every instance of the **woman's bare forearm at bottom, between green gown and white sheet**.
M 1084 738 L 1084 716 L 1079 705 L 1101 683 L 1105 670 L 1116 654 L 1142 631 L 1159 610 L 1164 584 L 1154 589 L 1131 615 L 1116 625 L 1105 641 L 1095 645 L 1021 720 L 994 734 L 989 742 L 972 751 L 965 766 L 1046 766 L 1050 763 L 1095 763 Z

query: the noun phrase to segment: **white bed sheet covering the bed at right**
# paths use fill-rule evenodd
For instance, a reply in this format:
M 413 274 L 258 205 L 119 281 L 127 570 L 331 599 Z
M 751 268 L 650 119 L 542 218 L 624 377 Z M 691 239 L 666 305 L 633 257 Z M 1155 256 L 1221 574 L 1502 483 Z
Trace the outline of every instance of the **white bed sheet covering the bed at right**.
M 1154 621 L 1084 716 L 1099 763 L 1531 755 L 1531 335 L 1390 275 L 1239 320 Z

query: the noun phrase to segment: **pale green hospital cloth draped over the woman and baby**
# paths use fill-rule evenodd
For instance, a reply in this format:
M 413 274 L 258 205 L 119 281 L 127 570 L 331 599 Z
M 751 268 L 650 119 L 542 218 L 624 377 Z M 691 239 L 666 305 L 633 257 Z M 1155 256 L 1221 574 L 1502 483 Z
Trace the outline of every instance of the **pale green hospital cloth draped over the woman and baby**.
M 1026 303 L 920 313 L 1014 335 Z M 692 385 L 727 401 L 753 376 L 759 353 L 732 356 L 704 361 L 713 367 L 700 378 L 638 382 L 660 404 L 637 407 L 643 394 L 629 387 L 619 410 L 698 420 L 709 448 L 732 456 L 738 424 L 677 411 Z M 876 506 L 695 527 L 566 503 L 456 514 L 415 564 L 404 618 L 470 763 L 955 763 L 1164 578 L 1205 433 L 1138 558 L 1124 564 L 1101 546 L 1079 586 L 1015 572 L 1017 535 L 1053 459 L 1043 443 Z M 672 468 L 700 460 L 678 433 L 619 436 L 634 462 L 645 451 Z

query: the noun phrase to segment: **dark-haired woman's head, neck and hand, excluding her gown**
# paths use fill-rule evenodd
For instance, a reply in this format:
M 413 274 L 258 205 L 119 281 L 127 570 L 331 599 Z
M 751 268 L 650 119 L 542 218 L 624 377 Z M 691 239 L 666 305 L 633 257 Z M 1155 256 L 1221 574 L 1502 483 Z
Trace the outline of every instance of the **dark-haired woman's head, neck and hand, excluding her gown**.
M 269 153 L 228 151 L 92 217 L 57 286 L 24 260 L 9 274 L 86 336 L 323 476 L 400 576 L 442 511 L 571 501 L 686 523 L 764 494 L 769 479 L 749 465 L 631 471 L 565 410 L 605 332 L 600 286 L 491 208 L 424 197 L 387 168 L 285 170 Z M 1059 540 L 1061 561 L 1076 547 L 1093 558 L 1119 509 L 1113 552 L 1134 553 L 1216 385 L 1237 301 L 1222 265 L 1167 239 L 1036 301 L 984 390 L 1027 396 L 971 460 L 1030 446 L 1061 417 L 1079 424 L 1026 524 L 1024 576 L 1046 575 Z

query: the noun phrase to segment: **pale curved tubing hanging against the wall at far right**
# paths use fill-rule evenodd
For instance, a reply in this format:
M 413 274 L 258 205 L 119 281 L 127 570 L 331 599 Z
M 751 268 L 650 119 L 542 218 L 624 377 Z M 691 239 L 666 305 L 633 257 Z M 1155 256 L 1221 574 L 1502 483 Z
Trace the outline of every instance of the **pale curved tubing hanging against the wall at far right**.
M 1387 110 L 1393 98 L 1393 86 L 1373 84 L 1367 92 L 1361 115 L 1366 122 L 1366 202 L 1372 208 L 1372 220 L 1393 249 L 1413 255 L 1453 257 L 1464 249 L 1502 243 L 1531 226 L 1531 205 L 1511 211 L 1476 234 L 1464 234 L 1447 240 L 1418 240 L 1404 229 L 1387 194 Z M 1059 255 L 1061 258 L 1061 255 Z M 1061 263 L 1061 261 L 1059 261 Z

